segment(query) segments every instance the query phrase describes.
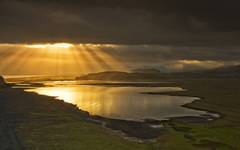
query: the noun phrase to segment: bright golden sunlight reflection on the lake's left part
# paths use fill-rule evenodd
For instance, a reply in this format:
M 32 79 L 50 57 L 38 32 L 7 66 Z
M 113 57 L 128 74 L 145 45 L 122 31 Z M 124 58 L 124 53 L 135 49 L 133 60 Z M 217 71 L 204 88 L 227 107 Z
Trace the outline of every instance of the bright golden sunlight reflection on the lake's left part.
M 32 91 L 32 90 L 27 90 Z M 112 90 L 101 87 L 49 87 L 39 88 L 37 93 L 48 95 L 64 100 L 67 103 L 76 104 L 80 109 L 86 110 L 91 114 L 109 114 L 112 108 L 111 94 L 120 92 L 121 90 Z M 104 93 L 108 93 L 107 103 L 104 103 Z M 110 98 L 110 99 L 109 99 Z M 104 108 L 104 110 L 103 110 Z M 104 111 L 104 112 L 103 112 Z

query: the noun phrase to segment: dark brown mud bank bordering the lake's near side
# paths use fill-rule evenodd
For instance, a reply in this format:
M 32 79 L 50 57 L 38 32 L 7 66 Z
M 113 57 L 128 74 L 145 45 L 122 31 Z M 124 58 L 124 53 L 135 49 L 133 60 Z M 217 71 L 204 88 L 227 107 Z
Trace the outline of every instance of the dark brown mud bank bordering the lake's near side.
M 14 90 L 14 88 L 9 87 L 10 89 Z M 26 92 L 24 91 L 25 88 L 22 89 L 15 89 L 19 90 L 21 92 Z M 161 128 L 153 128 L 152 126 L 159 126 L 162 125 L 163 123 L 168 123 L 171 122 L 171 120 L 178 118 L 178 120 L 186 121 L 186 118 L 188 118 L 189 122 L 192 122 L 191 116 L 183 116 L 183 117 L 170 117 L 169 119 L 166 120 L 155 120 L 151 118 L 146 118 L 145 120 L 141 121 L 134 121 L 134 120 L 123 120 L 123 119 L 111 119 L 111 118 L 105 118 L 102 116 L 96 116 L 96 115 L 91 115 L 89 112 L 81 110 L 77 108 L 76 105 L 64 102 L 62 100 L 57 100 L 55 97 L 51 96 L 44 96 L 44 95 L 39 95 L 34 92 L 30 92 L 32 94 L 35 94 L 36 96 L 39 96 L 40 98 L 47 97 L 49 100 L 56 100 L 56 101 L 61 101 L 62 103 L 66 105 L 71 105 L 73 110 L 78 109 L 80 113 L 80 118 L 94 123 L 94 124 L 100 124 L 101 126 L 111 129 L 114 132 L 118 131 L 121 132 L 122 135 L 129 139 L 138 139 L 140 141 L 143 140 L 153 140 L 155 138 L 158 138 L 163 134 L 163 132 L 166 132 L 164 129 L 164 126 Z M 165 94 L 166 95 L 166 94 Z M 183 106 L 184 107 L 184 106 Z M 191 108 L 192 109 L 192 108 Z M 84 115 L 82 115 L 84 114 Z M 194 117 L 194 120 L 198 120 L 198 122 L 205 122 L 206 119 L 202 119 L 202 117 Z

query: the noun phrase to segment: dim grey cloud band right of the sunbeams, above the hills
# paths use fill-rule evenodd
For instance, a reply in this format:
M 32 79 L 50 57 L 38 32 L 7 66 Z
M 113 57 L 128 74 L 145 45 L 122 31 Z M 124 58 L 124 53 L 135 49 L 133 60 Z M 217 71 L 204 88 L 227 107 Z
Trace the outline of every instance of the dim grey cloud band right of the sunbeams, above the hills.
M 121 45 L 102 47 L 128 68 L 157 68 L 161 71 L 193 71 L 239 65 L 238 48 L 173 47 L 159 45 Z

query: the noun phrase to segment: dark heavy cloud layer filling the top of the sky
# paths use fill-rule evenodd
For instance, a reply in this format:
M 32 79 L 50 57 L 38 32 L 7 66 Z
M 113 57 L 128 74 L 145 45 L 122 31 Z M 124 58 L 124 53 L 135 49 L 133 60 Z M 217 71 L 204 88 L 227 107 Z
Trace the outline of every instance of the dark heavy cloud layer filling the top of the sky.
M 235 0 L 0 0 L 0 42 L 239 46 Z

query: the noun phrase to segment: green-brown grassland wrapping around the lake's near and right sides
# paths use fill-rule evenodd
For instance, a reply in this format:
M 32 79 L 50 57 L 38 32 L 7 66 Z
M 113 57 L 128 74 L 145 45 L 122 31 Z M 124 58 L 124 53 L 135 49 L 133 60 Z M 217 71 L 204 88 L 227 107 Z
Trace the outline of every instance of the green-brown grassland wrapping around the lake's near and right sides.
M 175 127 L 166 124 L 167 132 L 155 142 L 139 143 L 80 120 L 56 100 L 49 102 L 49 98 L 44 100 L 35 96 L 34 100 L 27 101 L 27 98 L 19 97 L 22 101 L 14 102 L 12 110 L 27 111 L 28 120 L 19 124 L 17 132 L 29 150 L 240 149 L 240 80 L 189 79 L 173 82 L 175 86 L 188 89 L 181 94 L 204 98 L 188 106 L 218 112 L 223 118 L 209 123 L 173 121 Z M 23 107 L 26 110 L 22 110 Z

